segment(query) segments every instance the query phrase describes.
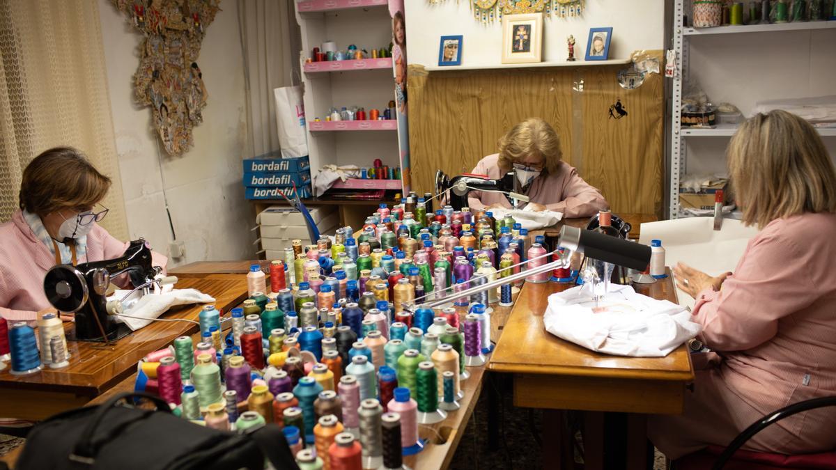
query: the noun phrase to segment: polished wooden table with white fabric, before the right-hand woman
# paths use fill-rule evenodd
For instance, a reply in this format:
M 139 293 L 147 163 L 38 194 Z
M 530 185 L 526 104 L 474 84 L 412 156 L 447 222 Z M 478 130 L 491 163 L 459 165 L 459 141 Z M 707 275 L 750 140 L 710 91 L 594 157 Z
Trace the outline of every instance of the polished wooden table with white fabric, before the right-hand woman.
M 543 314 L 548 295 L 571 287 L 573 284 L 525 284 L 507 319 L 487 367 L 513 375 L 514 405 L 546 410 L 681 413 L 685 387 L 694 379 L 691 355 L 685 345 L 660 358 L 622 357 L 587 350 L 545 330 Z M 634 287 L 640 294 L 676 302 L 670 276 L 655 284 Z M 543 422 L 558 417 L 558 413 L 547 411 Z M 600 432 L 604 415 L 587 413 L 586 418 L 593 434 Z M 645 453 L 643 417 L 630 415 L 628 419 L 635 431 L 630 435 L 633 441 L 628 457 L 640 462 Z M 543 429 L 544 435 L 555 431 L 545 424 Z M 587 468 L 603 466 L 596 460 L 604 453 L 602 436 L 597 437 L 584 436 Z M 546 441 L 544 436 L 543 442 Z M 544 447 L 544 451 L 549 453 L 557 447 Z M 548 458 L 558 459 L 551 454 Z

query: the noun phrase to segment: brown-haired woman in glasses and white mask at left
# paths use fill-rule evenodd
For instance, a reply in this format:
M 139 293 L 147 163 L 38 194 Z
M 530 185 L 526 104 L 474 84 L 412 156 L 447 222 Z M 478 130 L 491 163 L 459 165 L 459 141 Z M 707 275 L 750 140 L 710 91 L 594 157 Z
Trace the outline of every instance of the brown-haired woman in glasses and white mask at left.
M 43 276 L 55 264 L 118 258 L 127 243 L 96 222 L 108 209 L 99 202 L 110 189 L 79 151 L 57 147 L 43 152 L 23 170 L 20 210 L 0 225 L 0 315 L 33 321 L 54 312 L 43 294 Z M 153 253 L 152 263 L 166 267 Z

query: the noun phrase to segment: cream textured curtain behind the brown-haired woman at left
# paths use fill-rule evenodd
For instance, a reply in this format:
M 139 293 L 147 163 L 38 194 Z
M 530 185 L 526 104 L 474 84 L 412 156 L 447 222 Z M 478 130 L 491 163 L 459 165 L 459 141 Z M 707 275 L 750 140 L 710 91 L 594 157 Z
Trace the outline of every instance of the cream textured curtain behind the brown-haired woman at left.
M 0 221 L 18 208 L 23 169 L 74 146 L 113 185 L 101 225 L 128 238 L 95 0 L 0 0 Z

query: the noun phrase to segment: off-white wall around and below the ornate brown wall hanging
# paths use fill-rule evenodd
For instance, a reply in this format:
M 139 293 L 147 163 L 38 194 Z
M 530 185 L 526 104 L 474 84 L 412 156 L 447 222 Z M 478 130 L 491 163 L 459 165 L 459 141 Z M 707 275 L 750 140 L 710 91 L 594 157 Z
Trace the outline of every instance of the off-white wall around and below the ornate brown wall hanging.
M 161 146 L 151 128 L 150 111 L 133 99 L 141 36 L 109 0 L 99 0 L 130 237 L 145 237 L 166 253 L 171 229 L 165 189 L 177 240 L 186 243 L 185 258 L 170 260 L 170 266 L 255 256 L 255 237 L 249 232 L 254 214 L 241 183 L 247 124 L 237 3 L 221 6 L 206 29 L 197 60 L 209 97 L 203 122 L 194 129 L 195 145 L 180 157 L 163 154 L 161 176 Z

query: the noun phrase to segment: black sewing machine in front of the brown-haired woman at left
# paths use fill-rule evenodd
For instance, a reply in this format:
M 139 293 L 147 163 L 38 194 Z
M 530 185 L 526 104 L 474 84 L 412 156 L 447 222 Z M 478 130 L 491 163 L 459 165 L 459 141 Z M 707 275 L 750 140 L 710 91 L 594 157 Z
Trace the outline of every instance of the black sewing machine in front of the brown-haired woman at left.
M 136 289 L 147 289 L 161 271 L 151 266 L 151 250 L 140 238 L 120 258 L 50 268 L 43 278 L 43 292 L 59 312 L 75 314 L 74 338 L 70 335 L 69 339 L 113 341 L 128 335 L 130 329 L 111 316 L 121 312 L 121 302 L 107 301 L 110 280 L 127 273 Z

